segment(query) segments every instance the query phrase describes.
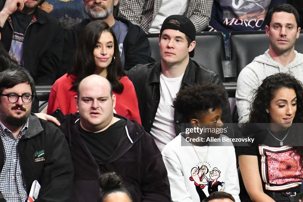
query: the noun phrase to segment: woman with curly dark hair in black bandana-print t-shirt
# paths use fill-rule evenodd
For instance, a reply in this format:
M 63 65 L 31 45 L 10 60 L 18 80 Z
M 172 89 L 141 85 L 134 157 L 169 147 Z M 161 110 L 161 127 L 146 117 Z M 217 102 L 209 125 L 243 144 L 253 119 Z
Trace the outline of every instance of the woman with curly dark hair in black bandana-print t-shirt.
M 259 131 L 254 134 L 258 142 L 237 147 L 240 171 L 250 199 L 298 201 L 303 150 L 298 147 L 302 145 L 300 124 L 293 123 L 303 123 L 301 82 L 285 73 L 268 76 L 256 90 L 250 111 L 249 122 L 242 131 L 248 131 L 249 124 L 258 126 Z

